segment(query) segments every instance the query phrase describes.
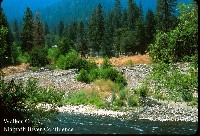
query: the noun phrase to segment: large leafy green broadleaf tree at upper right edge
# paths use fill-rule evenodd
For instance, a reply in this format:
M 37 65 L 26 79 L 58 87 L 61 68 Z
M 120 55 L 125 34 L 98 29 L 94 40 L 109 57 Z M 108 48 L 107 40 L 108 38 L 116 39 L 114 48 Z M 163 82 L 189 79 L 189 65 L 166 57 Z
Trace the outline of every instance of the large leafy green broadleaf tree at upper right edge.
M 180 23 L 169 32 L 158 32 L 156 41 L 150 48 L 153 61 L 197 62 L 198 13 L 194 4 L 180 5 Z

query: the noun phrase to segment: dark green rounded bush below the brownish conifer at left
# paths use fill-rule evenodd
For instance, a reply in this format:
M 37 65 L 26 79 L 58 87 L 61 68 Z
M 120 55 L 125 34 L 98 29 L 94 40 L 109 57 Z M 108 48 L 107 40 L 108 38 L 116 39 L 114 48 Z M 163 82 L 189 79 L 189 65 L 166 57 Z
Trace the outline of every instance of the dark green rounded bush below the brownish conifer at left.
M 43 47 L 34 47 L 30 52 L 30 64 L 31 66 L 42 67 L 49 64 L 47 59 L 48 50 Z

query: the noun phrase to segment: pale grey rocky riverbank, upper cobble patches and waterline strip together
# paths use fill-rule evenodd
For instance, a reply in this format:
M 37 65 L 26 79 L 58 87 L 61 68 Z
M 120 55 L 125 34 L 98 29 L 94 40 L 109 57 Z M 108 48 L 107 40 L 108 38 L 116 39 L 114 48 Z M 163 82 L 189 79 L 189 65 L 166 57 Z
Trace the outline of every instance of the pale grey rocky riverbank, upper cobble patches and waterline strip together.
M 185 72 L 189 66 L 188 64 L 176 65 L 182 72 Z M 141 81 L 144 80 L 152 70 L 150 65 L 138 64 L 134 67 L 117 68 L 126 78 L 128 87 L 133 90 L 141 86 Z M 82 90 L 85 87 L 92 87 L 92 84 L 85 84 L 76 81 L 77 70 L 45 70 L 41 69 L 39 72 L 25 71 L 23 73 L 6 76 L 4 79 L 9 81 L 12 78 L 20 79 L 26 83 L 30 78 L 37 78 L 39 86 L 41 87 L 55 87 L 61 89 L 66 93 Z M 63 106 L 57 107 L 59 112 L 109 116 L 128 120 L 149 119 L 152 121 L 192 121 L 198 122 L 198 109 L 188 106 L 185 102 L 166 102 L 157 101 L 147 98 L 146 105 L 140 109 L 129 110 L 125 112 L 111 111 L 106 109 L 96 109 L 94 106 Z M 149 104 L 151 103 L 151 104 Z M 51 105 L 38 105 L 51 107 Z M 48 109 L 48 108 L 47 108 Z

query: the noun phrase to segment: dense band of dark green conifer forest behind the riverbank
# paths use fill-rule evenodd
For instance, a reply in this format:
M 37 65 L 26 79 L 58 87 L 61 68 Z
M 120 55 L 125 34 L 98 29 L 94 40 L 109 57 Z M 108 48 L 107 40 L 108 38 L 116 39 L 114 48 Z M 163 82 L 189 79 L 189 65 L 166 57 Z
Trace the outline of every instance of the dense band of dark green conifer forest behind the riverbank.
M 191 22 L 189 17 L 181 13 L 183 9 L 179 11 L 180 17 L 176 16 L 177 4 L 176 0 L 164 2 L 158 0 L 156 12 L 148 9 L 144 15 L 141 2 L 136 4 L 134 0 L 128 1 L 127 8 L 122 8 L 121 1 L 116 0 L 112 11 L 104 11 L 102 5 L 96 3 L 87 22 L 72 21 L 66 24 L 60 20 L 56 26 L 42 22 L 41 14 L 38 12 L 34 14 L 29 7 L 24 12 L 22 26 L 17 19 L 11 24 L 1 8 L 1 36 L 3 36 L 1 43 L 4 43 L 1 44 L 1 67 L 22 62 L 30 62 L 33 66 L 44 66 L 54 63 L 60 55 L 65 55 L 71 50 L 79 52 L 84 57 L 117 57 L 122 54 L 149 53 L 150 47 L 155 47 L 150 46 L 151 44 L 160 44 L 157 42 L 163 37 L 161 33 L 167 35 L 173 30 L 180 31 L 184 27 L 184 21 Z M 193 17 L 192 20 L 194 19 Z M 191 23 L 195 24 L 195 21 Z M 195 26 L 191 25 L 190 29 Z M 194 29 L 197 32 L 197 28 Z M 195 35 L 197 33 L 194 34 L 194 38 L 197 37 Z M 185 42 L 188 41 L 184 38 Z M 181 61 L 183 55 L 196 54 L 197 45 L 194 45 L 196 40 L 197 38 L 188 41 L 190 45 L 193 44 L 192 47 L 187 45 L 183 51 L 177 50 L 170 55 L 174 57 L 173 61 Z M 176 42 L 180 42 L 179 46 L 184 46 L 181 41 Z M 173 48 L 178 48 L 178 45 Z M 150 52 L 154 57 L 155 54 L 158 56 L 158 52 L 155 51 L 158 50 L 153 48 Z M 159 57 L 163 57 L 161 51 Z

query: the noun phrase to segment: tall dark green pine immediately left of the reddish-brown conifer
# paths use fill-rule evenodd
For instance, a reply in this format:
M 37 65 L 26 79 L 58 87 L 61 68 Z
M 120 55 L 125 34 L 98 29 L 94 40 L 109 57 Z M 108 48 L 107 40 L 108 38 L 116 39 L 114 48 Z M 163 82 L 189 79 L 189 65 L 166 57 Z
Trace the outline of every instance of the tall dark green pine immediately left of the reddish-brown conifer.
M 34 46 L 34 21 L 33 21 L 33 13 L 29 7 L 27 7 L 25 11 L 23 22 L 24 24 L 20 38 L 22 44 L 22 50 L 30 52 Z

